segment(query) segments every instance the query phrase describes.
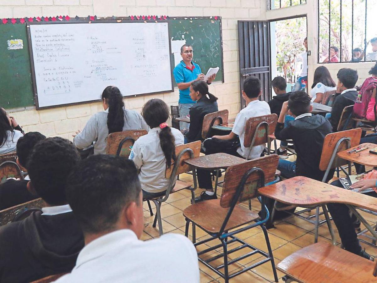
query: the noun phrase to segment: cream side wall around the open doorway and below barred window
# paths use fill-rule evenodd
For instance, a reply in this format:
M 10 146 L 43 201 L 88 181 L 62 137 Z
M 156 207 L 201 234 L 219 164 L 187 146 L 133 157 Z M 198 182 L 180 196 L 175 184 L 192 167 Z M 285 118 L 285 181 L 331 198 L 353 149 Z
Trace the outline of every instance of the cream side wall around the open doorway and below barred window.
M 268 0 L 266 0 L 268 1 Z M 369 77 L 369 70 L 374 66 L 375 62 L 360 63 L 318 63 L 318 0 L 307 0 L 307 4 L 292 6 L 288 8 L 275 9 L 266 11 L 267 20 L 277 20 L 290 18 L 295 16 L 307 16 L 308 25 L 308 50 L 311 55 L 308 56 L 308 85 L 309 90 L 313 84 L 314 71 L 319 66 L 326 66 L 329 69 L 334 81 L 337 81 L 336 74 L 341 68 L 356 69 L 359 73 L 357 85 L 361 85 L 364 80 Z

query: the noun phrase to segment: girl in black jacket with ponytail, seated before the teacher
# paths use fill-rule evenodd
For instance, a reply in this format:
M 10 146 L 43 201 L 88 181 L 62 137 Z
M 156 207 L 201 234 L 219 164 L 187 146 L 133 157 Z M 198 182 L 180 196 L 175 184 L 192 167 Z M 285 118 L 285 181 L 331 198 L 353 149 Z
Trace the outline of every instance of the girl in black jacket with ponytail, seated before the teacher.
M 202 140 L 202 126 L 204 116 L 219 111 L 215 95 L 208 92 L 208 85 L 205 81 L 192 82 L 190 86 L 190 97 L 196 103 L 190 107 L 190 128 L 182 133 L 187 137 L 187 142 Z

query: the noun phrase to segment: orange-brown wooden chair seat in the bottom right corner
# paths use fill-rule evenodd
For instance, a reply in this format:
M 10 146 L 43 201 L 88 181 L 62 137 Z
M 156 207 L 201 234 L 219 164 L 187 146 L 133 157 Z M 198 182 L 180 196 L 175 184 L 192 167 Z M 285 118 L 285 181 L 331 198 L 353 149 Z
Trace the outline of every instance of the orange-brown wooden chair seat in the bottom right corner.
M 327 242 L 294 252 L 276 267 L 299 282 L 376 282 L 375 263 Z

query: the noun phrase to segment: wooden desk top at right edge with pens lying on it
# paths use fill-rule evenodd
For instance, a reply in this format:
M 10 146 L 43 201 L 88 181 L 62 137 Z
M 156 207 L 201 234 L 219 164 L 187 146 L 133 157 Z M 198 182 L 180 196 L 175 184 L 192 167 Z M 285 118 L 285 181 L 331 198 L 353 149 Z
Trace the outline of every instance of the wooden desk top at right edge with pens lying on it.
M 359 152 L 348 153 L 348 151 L 351 151 L 352 149 L 357 148 L 358 146 L 359 145 L 340 151 L 337 155 L 345 160 L 349 160 L 366 166 L 377 167 L 377 154 L 372 154 L 369 152 L 371 149 L 377 148 L 377 145 L 375 145 L 374 143 L 362 143 L 360 146 L 367 147 L 367 149 L 364 149 Z

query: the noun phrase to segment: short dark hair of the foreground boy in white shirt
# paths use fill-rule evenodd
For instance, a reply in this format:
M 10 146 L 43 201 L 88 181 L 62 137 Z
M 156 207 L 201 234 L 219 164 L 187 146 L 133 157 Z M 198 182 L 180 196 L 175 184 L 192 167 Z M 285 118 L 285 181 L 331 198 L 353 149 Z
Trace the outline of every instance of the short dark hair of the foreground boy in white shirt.
M 69 175 L 66 194 L 84 233 L 110 231 L 122 209 L 139 204 L 141 186 L 135 164 L 115 155 L 92 155 Z

